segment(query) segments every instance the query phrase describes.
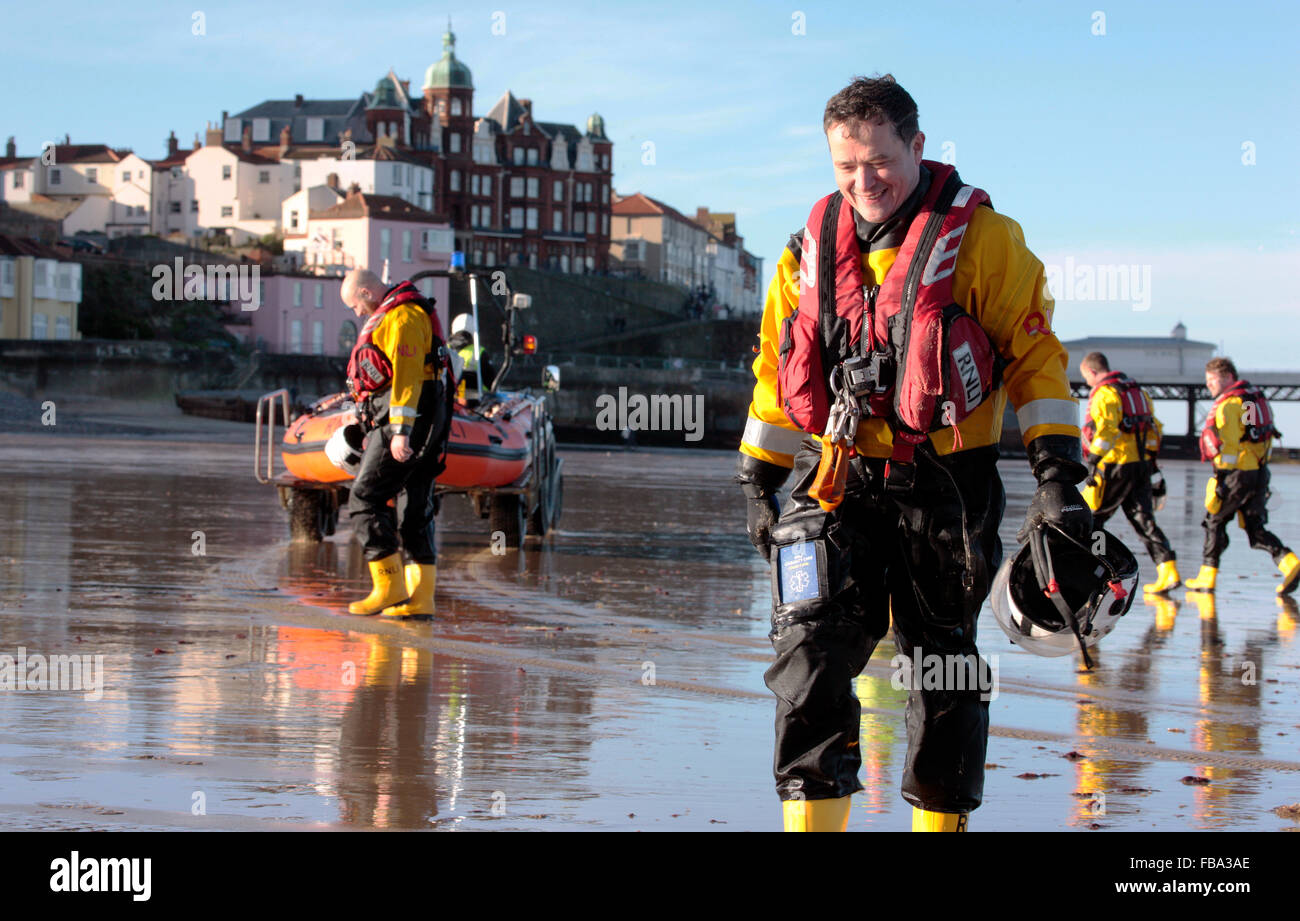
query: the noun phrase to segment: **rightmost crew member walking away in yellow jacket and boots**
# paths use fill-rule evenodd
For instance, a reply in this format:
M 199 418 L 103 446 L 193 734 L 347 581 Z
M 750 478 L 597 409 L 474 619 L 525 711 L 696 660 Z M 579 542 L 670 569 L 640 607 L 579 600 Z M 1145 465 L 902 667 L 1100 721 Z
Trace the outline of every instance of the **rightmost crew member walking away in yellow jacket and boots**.
M 1269 453 L 1273 438 L 1280 436 L 1273 424 L 1273 410 L 1264 394 L 1248 381 L 1238 380 L 1236 366 L 1226 358 L 1212 358 L 1205 366 L 1205 388 L 1214 398 L 1201 429 L 1201 461 L 1214 463 L 1214 475 L 1205 484 L 1205 550 L 1201 571 L 1187 587 L 1213 592 L 1218 563 L 1227 549 L 1227 524 L 1236 516 L 1251 546 L 1268 550 L 1282 572 L 1278 594 L 1290 594 L 1300 583 L 1300 559 L 1283 546 L 1269 523 Z

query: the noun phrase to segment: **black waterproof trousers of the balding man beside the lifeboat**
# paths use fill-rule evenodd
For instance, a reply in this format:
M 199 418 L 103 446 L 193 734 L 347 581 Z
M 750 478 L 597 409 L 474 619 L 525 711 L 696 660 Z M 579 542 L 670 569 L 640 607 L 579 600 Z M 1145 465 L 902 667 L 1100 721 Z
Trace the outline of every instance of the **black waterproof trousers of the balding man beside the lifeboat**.
M 347 511 L 368 561 L 382 559 L 404 546 L 412 563 L 438 562 L 433 483 L 442 472 L 442 454 L 451 431 L 441 381 L 424 382 L 416 411 L 410 438 L 415 457 L 406 462 L 394 459 L 391 438 L 380 425 L 365 442 L 361 466 L 352 481 Z M 389 506 L 391 498 L 398 498 L 400 515 L 398 509 Z

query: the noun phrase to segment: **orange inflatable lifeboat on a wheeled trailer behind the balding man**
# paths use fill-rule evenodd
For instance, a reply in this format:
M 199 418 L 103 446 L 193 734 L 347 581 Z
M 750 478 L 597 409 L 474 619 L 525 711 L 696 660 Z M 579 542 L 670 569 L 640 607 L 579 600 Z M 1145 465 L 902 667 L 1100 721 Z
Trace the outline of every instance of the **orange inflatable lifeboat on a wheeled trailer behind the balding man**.
M 343 406 L 342 397 L 320 401 L 317 406 L 325 408 L 300 415 L 285 431 L 281 458 L 290 476 L 309 483 L 352 479 L 325 457 L 325 442 L 346 423 L 351 411 L 350 406 Z M 438 485 L 468 489 L 516 483 L 528 471 L 532 428 L 533 403 L 524 398 L 507 397 L 480 410 L 458 405 L 447 438 L 447 468 L 438 476 Z

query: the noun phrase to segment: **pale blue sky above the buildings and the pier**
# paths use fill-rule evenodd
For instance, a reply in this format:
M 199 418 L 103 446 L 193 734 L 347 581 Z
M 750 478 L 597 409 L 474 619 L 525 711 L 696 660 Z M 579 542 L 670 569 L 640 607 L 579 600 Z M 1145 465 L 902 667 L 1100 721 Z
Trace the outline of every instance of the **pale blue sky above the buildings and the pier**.
M 204 35 L 192 34 L 195 9 Z M 737 212 L 767 276 L 833 189 L 826 100 L 855 74 L 892 72 L 916 99 L 927 156 L 950 144 L 963 178 L 1020 222 L 1045 263 L 1134 265 L 1138 278 L 1149 267 L 1145 310 L 1132 298 L 1062 299 L 1062 338 L 1158 336 L 1183 321 L 1240 366 L 1300 364 L 1283 334 L 1300 314 L 1300 4 L 191 0 L 58 10 L 5 12 L 0 133 L 17 135 L 20 152 L 68 133 L 159 157 L 168 131 L 188 144 L 222 109 L 295 92 L 354 96 L 390 66 L 417 87 L 450 16 L 476 113 L 506 88 L 532 98 L 543 121 L 581 125 L 599 112 L 620 193 L 686 213 Z

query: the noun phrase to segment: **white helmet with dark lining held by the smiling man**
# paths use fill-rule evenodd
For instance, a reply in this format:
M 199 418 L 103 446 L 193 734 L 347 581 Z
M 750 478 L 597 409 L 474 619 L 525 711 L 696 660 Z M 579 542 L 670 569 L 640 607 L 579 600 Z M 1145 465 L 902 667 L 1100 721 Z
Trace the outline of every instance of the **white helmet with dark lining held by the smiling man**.
M 1083 653 L 1114 630 L 1134 602 L 1138 558 L 1109 531 L 1092 549 L 1053 526 L 1030 540 L 993 578 L 993 617 L 1011 643 L 1035 656 Z

